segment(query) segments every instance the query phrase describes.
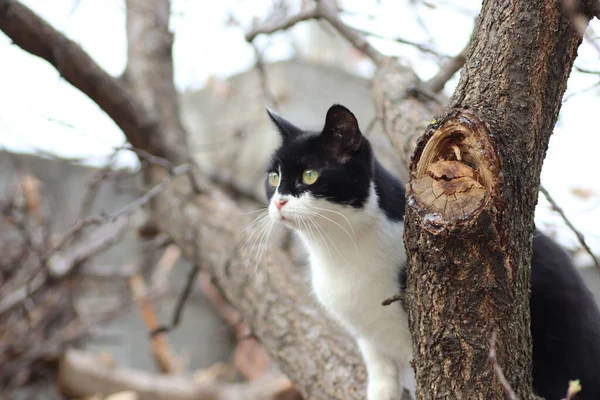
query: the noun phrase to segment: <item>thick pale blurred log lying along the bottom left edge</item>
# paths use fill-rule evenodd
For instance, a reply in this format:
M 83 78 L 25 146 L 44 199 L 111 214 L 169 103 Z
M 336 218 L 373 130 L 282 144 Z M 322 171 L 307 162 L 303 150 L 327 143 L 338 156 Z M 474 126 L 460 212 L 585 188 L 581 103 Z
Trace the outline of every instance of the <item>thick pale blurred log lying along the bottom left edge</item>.
M 290 382 L 281 377 L 233 384 L 153 375 L 107 365 L 101 357 L 72 349 L 60 360 L 59 381 L 63 391 L 73 397 L 131 390 L 140 400 L 276 400 L 290 388 Z

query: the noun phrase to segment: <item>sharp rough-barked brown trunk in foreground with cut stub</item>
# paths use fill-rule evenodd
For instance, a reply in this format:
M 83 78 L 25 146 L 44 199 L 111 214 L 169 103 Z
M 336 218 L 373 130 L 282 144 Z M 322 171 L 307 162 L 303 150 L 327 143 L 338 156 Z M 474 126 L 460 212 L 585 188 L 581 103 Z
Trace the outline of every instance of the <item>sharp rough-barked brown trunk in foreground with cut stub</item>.
M 533 212 L 580 42 L 560 2 L 484 1 L 450 105 L 417 144 L 404 239 L 419 399 L 531 397 Z

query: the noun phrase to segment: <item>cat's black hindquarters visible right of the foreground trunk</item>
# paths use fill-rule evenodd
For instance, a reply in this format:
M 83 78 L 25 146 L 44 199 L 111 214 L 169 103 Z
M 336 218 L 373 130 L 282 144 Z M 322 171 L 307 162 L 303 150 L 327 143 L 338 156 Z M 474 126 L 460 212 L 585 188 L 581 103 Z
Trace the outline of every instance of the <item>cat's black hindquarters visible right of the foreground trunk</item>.
M 533 238 L 531 260 L 533 387 L 561 399 L 579 379 L 576 400 L 600 399 L 600 314 L 569 255 L 547 236 Z

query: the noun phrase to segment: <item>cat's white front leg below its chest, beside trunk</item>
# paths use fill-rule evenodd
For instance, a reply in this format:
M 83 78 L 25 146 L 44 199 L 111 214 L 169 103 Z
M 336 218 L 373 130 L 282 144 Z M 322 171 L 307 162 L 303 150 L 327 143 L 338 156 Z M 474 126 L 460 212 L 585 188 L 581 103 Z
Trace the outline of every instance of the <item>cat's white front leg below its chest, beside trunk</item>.
M 359 338 L 357 342 L 367 367 L 367 400 L 399 400 L 401 385 L 396 360 L 366 339 Z

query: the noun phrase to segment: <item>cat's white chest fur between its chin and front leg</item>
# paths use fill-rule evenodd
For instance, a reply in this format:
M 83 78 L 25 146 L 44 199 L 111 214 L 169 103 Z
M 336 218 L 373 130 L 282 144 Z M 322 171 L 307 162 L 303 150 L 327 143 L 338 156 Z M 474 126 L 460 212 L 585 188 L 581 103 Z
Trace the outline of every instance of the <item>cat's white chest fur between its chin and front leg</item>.
M 318 230 L 299 233 L 319 302 L 353 336 L 407 362 L 411 339 L 404 310 L 399 303 L 381 305 L 399 291 L 400 267 L 406 262 L 403 224 L 383 214 L 374 193 L 370 200 L 374 204 L 358 212 L 345 207 L 347 220 L 322 220 Z

